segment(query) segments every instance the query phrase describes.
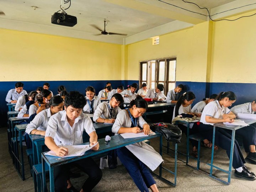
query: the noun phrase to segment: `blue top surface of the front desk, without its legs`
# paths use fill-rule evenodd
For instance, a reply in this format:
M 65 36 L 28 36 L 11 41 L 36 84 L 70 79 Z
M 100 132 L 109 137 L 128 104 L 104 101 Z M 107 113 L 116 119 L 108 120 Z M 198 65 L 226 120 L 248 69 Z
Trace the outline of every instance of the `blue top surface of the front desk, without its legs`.
M 121 148 L 121 147 L 126 146 L 126 145 L 141 142 L 141 141 L 144 141 L 146 139 L 152 139 L 152 138 L 155 138 L 155 137 L 159 137 L 160 135 L 161 135 L 160 133 L 156 133 L 154 135 L 149 135 L 147 137 L 138 137 L 138 138 L 130 138 L 130 139 L 124 139 L 121 135 L 114 135 L 114 136 L 111 137 L 111 141 L 108 142 L 108 144 L 105 144 L 105 138 L 99 139 L 98 142 L 100 144 L 100 148 L 97 151 L 88 150 L 82 156 L 69 157 L 69 158 L 60 158 L 60 157 L 56 157 L 56 156 L 44 155 L 44 153 L 43 153 L 42 157 L 46 160 L 48 165 L 57 166 L 57 165 L 60 165 L 60 164 L 65 164 L 65 163 L 72 162 L 72 161 L 75 161 L 75 160 L 87 158 L 89 156 L 104 153 L 106 151 L 110 151 L 110 150 L 113 150 L 113 149 Z M 89 145 L 89 144 L 90 144 L 90 142 L 82 143 L 80 145 Z

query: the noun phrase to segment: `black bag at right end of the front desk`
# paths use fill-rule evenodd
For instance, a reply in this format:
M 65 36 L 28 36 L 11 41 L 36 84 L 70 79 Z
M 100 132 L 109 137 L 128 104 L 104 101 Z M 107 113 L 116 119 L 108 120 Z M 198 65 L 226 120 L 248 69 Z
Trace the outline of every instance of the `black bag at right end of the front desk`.
M 150 129 L 161 133 L 167 142 L 180 143 L 181 129 L 171 123 L 151 123 Z

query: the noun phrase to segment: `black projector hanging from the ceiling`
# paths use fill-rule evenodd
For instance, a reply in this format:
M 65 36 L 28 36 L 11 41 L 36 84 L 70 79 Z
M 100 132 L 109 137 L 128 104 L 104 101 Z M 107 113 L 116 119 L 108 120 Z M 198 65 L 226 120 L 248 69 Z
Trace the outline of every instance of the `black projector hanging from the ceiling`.
M 76 25 L 77 19 L 75 16 L 56 12 L 52 15 L 52 23 L 56 25 L 73 27 Z

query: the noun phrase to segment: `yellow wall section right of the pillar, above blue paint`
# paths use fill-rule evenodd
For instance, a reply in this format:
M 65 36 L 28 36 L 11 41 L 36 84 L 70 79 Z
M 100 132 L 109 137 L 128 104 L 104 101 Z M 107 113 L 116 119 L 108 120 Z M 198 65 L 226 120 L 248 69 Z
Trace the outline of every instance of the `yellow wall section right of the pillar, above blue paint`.
M 252 15 L 255 11 L 230 17 Z M 256 83 L 256 16 L 213 23 L 210 82 Z

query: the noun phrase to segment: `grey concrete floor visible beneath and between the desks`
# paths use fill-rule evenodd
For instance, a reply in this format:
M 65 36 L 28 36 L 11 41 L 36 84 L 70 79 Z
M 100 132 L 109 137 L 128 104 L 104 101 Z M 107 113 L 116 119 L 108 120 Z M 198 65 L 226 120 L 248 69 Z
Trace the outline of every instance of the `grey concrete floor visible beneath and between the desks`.
M 156 150 L 159 149 L 159 139 L 152 139 L 151 145 L 154 146 Z M 34 185 L 32 177 L 29 174 L 29 165 L 27 158 L 25 157 L 25 174 L 26 180 L 22 181 L 18 176 L 10 155 L 8 153 L 7 145 L 7 133 L 6 128 L 0 129 L 0 191 L 14 191 L 14 192 L 25 192 L 25 191 L 34 191 Z M 185 152 L 186 146 L 186 137 L 182 138 L 182 143 L 179 144 L 179 150 Z M 24 148 L 25 149 L 25 148 Z M 163 148 L 164 149 L 164 148 Z M 242 149 L 243 150 L 243 149 Z M 244 151 L 244 150 L 243 150 Z M 164 166 L 173 170 L 174 167 L 174 158 L 171 158 L 169 155 L 164 154 Z M 184 159 L 181 155 L 180 158 Z M 202 147 L 201 159 L 210 162 L 210 149 Z M 191 165 L 196 165 L 194 160 L 191 160 Z M 228 157 L 224 150 L 219 149 L 214 155 L 214 162 L 218 164 L 223 169 L 228 169 Z M 247 164 L 247 167 L 251 171 L 256 172 L 256 165 Z M 203 170 L 209 171 L 209 166 L 201 164 Z M 134 182 L 128 175 L 126 169 L 123 166 L 118 166 L 117 169 L 102 170 L 103 177 L 100 183 L 94 188 L 94 191 L 98 192 L 118 192 L 126 191 L 133 192 L 138 191 L 138 188 L 134 185 Z M 214 170 L 214 175 L 227 179 L 227 175 L 221 171 Z M 166 171 L 163 172 L 163 176 L 167 179 L 173 180 L 173 176 Z M 72 183 L 75 188 L 80 189 L 83 181 L 86 179 L 86 175 L 82 174 L 82 177 L 72 179 Z M 178 161 L 177 165 L 177 186 L 171 187 L 166 183 L 155 178 L 159 191 L 256 191 L 256 181 L 246 181 L 241 180 L 232 174 L 231 184 L 226 186 L 222 183 L 210 178 L 207 174 L 194 170 L 186 166 L 183 162 Z

